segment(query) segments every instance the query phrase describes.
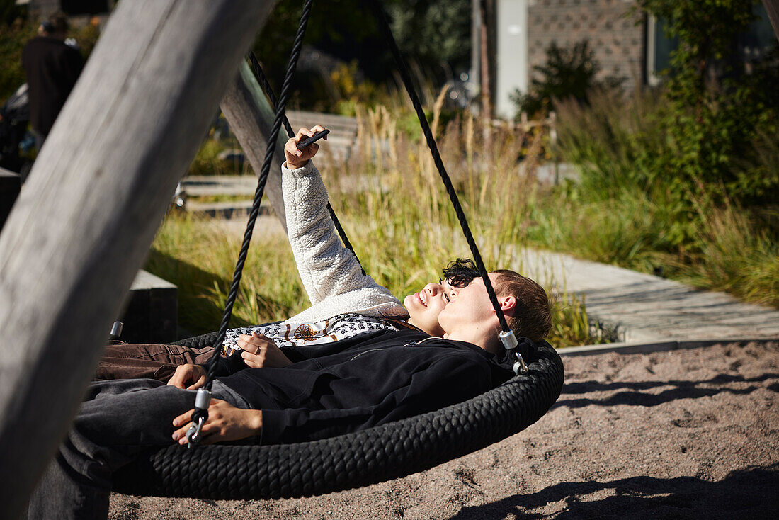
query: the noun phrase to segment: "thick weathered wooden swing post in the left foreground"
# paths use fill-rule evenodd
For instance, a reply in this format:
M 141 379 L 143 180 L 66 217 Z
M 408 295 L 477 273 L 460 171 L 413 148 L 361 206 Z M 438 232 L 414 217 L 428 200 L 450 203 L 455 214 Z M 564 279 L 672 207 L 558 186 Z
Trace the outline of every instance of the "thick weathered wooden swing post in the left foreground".
M 273 0 L 119 2 L 0 235 L 0 511 L 23 514 Z

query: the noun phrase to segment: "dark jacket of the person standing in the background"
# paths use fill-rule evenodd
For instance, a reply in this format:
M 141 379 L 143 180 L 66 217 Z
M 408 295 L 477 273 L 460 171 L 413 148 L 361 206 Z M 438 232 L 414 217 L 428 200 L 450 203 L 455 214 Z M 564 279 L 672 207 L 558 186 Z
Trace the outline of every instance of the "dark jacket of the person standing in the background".
M 22 51 L 33 130 L 47 136 L 79 78 L 83 59 L 57 37 L 37 36 Z

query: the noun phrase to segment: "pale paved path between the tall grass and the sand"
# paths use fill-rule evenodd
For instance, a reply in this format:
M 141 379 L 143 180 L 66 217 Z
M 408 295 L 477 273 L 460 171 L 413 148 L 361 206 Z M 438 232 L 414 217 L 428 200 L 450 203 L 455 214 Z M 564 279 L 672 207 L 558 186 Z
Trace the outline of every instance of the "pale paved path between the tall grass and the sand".
M 779 310 L 739 302 L 622 267 L 525 249 L 520 272 L 583 295 L 590 317 L 616 325 L 620 341 L 779 338 Z

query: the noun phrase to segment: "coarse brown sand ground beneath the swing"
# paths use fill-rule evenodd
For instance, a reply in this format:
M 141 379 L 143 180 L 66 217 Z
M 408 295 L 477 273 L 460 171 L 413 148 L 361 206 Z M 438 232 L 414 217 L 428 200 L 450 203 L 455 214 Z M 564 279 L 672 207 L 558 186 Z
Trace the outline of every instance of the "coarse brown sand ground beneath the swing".
M 115 494 L 110 518 L 779 518 L 779 342 L 564 362 L 538 423 L 426 472 L 282 501 Z

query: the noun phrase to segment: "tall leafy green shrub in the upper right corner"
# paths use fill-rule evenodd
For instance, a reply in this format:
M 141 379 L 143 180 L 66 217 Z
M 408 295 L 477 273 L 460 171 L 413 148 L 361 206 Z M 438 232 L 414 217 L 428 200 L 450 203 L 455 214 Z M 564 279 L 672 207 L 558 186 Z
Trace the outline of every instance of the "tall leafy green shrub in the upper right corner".
M 755 19 L 755 0 L 640 0 L 666 21 L 671 52 L 659 129 L 665 147 L 654 159 L 670 182 L 701 195 L 724 186 L 747 204 L 775 203 L 779 172 L 760 165 L 760 136 L 779 130 L 777 53 L 745 63 L 735 52 L 738 34 Z

